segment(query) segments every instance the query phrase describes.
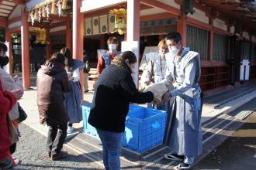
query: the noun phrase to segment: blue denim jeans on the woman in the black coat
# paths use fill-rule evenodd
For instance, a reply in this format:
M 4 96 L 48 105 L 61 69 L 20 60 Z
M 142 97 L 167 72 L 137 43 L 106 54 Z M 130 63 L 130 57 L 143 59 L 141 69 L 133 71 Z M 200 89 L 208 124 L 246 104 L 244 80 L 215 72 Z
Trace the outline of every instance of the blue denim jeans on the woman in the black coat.
M 106 170 L 120 169 L 121 139 L 123 133 L 102 131 L 97 129 L 102 141 L 102 158 Z

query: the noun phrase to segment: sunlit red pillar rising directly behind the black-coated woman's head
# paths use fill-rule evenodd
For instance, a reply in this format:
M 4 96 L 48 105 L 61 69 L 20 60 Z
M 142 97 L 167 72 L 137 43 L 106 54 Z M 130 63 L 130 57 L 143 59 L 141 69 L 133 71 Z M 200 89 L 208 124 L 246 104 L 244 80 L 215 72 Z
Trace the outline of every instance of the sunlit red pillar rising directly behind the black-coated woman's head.
M 127 1 L 127 29 L 126 41 L 137 41 L 137 63 L 133 79 L 137 87 L 139 87 L 139 61 L 140 61 L 140 0 Z

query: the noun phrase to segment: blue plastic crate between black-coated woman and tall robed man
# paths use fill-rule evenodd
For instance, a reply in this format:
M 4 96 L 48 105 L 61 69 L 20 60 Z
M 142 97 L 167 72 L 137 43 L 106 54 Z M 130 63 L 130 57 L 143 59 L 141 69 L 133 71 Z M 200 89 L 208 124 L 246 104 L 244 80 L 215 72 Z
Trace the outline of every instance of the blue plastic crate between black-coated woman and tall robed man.
M 130 110 L 126 117 L 122 145 L 140 153 L 161 145 L 165 123 L 165 111 L 147 107 Z

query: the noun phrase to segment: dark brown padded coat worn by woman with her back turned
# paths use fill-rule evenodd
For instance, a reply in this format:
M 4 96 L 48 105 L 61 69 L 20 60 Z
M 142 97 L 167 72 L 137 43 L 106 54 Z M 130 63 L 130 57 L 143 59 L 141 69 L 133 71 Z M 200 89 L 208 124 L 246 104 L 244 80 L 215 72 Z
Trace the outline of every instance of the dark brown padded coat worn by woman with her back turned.
M 40 123 L 67 124 L 64 93 L 69 92 L 71 87 L 63 66 L 47 62 L 37 73 L 36 86 Z

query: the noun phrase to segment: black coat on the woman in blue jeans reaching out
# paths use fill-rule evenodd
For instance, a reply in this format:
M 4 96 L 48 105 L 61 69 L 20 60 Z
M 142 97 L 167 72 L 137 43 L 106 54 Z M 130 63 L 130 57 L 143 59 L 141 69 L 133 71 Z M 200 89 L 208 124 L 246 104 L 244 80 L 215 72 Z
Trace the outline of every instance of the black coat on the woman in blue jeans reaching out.
M 126 63 L 111 64 L 99 76 L 88 122 L 103 131 L 123 132 L 130 102 L 144 104 L 153 99 L 153 93 L 137 90 Z

